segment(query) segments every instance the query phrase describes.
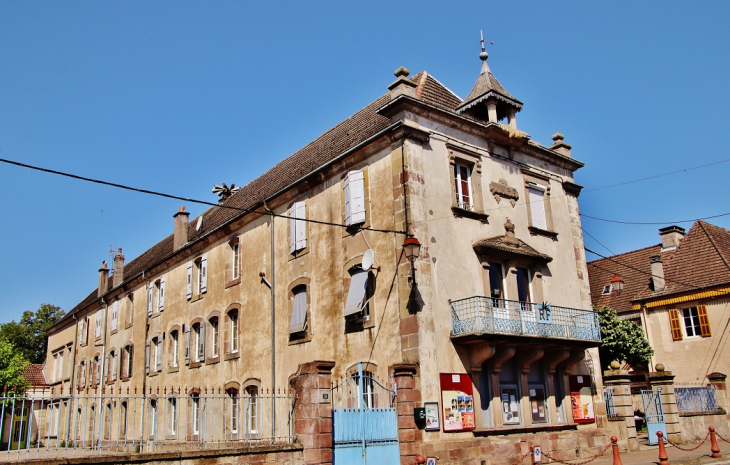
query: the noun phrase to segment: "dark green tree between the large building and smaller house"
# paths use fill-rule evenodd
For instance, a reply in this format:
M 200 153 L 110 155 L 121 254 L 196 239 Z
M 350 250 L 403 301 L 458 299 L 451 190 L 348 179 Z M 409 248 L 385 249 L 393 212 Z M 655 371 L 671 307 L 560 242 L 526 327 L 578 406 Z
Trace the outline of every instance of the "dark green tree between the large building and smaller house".
M 597 309 L 603 342 L 598 347 L 601 365 L 608 369 L 614 360 L 633 366 L 648 366 L 654 350 L 644 337 L 644 332 L 634 323 L 621 320 L 609 307 Z

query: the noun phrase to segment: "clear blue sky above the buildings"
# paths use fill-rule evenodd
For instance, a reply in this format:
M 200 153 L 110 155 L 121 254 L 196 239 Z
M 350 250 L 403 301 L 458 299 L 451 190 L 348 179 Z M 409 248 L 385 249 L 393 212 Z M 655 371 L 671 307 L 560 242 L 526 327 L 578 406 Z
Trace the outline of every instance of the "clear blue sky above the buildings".
M 730 162 L 591 189 L 730 159 L 728 18 L 721 1 L 6 1 L 0 158 L 215 201 L 214 184 L 251 181 L 385 93 L 401 65 L 465 97 L 483 29 L 492 71 L 525 103 L 520 129 L 543 144 L 562 132 L 586 164 L 583 213 L 727 213 Z M 181 204 L 1 163 L 0 202 L 0 322 L 71 309 L 112 245 L 131 260 Z M 659 225 L 583 224 L 616 253 L 659 242 Z

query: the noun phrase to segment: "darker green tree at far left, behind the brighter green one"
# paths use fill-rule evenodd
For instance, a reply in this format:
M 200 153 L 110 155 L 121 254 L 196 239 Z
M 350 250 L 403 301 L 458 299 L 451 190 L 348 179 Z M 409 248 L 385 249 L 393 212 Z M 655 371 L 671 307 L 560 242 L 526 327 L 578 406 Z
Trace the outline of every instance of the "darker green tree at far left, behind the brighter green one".
M 0 339 L 4 339 L 30 363 L 43 363 L 48 346 L 48 328 L 66 312 L 51 304 L 42 304 L 36 312 L 25 311 L 19 322 L 0 325 Z

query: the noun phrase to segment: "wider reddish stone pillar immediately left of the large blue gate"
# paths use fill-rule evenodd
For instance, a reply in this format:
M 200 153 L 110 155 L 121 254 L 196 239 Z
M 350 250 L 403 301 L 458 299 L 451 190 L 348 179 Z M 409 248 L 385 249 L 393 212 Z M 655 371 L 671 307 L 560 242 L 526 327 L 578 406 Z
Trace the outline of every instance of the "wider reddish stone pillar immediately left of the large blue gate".
M 302 363 L 289 379 L 294 390 L 294 434 L 305 464 L 332 463 L 332 368 L 335 362 Z

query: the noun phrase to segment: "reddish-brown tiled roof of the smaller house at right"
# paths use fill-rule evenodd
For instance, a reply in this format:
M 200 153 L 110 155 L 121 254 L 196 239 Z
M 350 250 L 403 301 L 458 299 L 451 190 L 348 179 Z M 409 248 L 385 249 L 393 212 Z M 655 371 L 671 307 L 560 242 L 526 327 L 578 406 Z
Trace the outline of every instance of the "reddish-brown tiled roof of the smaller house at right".
M 666 288 L 657 293 L 649 287 L 652 255 L 661 255 L 666 283 Z M 607 305 L 617 311 L 631 309 L 631 301 L 635 300 L 727 284 L 730 283 L 730 231 L 697 221 L 673 251 L 661 252 L 661 246 L 655 245 L 596 260 L 588 263 L 588 273 L 593 305 Z M 624 278 L 624 291 L 602 296 L 603 286 L 614 273 Z

